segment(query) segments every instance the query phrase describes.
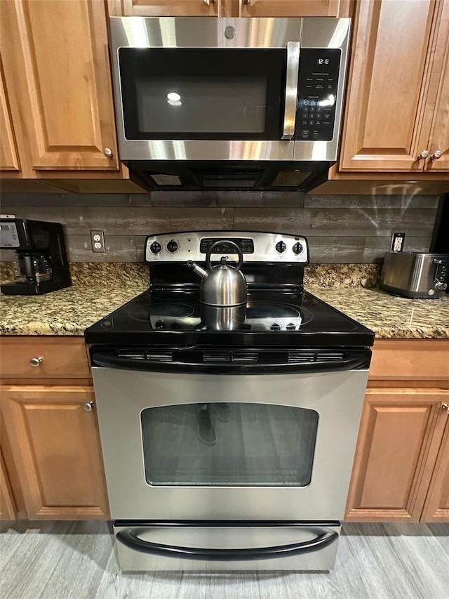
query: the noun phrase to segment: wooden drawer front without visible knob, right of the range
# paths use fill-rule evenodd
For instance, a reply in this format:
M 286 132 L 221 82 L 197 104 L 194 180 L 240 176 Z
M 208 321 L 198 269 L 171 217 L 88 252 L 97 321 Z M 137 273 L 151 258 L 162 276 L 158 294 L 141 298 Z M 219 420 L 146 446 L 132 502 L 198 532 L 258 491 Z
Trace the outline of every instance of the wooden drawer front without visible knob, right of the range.
M 375 341 L 371 381 L 449 381 L 449 340 Z

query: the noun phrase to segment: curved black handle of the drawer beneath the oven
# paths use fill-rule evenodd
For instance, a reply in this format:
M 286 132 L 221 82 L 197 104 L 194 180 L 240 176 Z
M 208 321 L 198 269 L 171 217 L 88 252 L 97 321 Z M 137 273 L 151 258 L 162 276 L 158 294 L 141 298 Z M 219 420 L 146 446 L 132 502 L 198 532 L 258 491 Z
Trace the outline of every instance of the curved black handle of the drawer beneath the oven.
M 275 558 L 288 558 L 290 555 L 301 555 L 320 551 L 338 539 L 338 533 L 323 529 L 317 537 L 310 541 L 293 543 L 290 545 L 278 545 L 274 547 L 257 547 L 251 549 L 204 549 L 199 547 L 178 547 L 162 543 L 151 543 L 143 541 L 138 537 L 140 529 L 121 530 L 116 534 L 116 539 L 126 547 L 150 553 L 164 558 L 185 558 L 187 560 L 207 560 L 212 562 L 222 561 L 246 561 L 246 560 L 270 560 Z

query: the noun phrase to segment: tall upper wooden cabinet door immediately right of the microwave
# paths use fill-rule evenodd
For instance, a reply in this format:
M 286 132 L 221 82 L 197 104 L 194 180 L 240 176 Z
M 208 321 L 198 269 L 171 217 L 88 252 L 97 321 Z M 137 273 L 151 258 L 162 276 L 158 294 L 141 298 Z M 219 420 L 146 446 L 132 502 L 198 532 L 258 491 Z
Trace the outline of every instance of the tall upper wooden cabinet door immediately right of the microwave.
M 435 0 L 359 0 L 340 171 L 422 171 Z

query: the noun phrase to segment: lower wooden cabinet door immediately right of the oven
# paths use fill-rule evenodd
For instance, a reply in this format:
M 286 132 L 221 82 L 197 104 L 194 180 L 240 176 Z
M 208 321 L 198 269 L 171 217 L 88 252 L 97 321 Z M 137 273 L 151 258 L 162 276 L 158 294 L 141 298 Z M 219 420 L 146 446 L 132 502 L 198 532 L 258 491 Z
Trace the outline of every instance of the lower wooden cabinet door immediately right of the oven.
M 420 520 L 443 435 L 449 391 L 372 389 L 366 394 L 347 520 Z

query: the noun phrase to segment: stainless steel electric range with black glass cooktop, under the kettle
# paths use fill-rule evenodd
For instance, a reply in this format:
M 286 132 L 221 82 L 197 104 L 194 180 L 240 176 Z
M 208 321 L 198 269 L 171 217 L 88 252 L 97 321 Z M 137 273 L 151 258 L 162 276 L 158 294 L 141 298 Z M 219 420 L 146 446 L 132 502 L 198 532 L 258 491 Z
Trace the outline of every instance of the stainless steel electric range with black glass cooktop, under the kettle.
M 187 268 L 217 240 L 248 283 L 226 331 Z M 304 291 L 300 235 L 152 235 L 145 259 L 149 290 L 85 333 L 121 570 L 330 570 L 373 332 Z

